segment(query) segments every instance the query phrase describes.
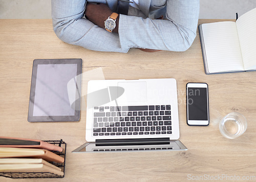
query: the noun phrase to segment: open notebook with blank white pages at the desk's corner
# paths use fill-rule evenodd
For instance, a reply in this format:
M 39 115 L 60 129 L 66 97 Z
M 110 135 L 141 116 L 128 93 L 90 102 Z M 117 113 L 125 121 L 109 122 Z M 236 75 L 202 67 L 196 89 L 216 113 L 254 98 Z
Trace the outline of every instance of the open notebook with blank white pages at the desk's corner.
M 234 21 L 199 25 L 205 73 L 256 70 L 256 8 Z

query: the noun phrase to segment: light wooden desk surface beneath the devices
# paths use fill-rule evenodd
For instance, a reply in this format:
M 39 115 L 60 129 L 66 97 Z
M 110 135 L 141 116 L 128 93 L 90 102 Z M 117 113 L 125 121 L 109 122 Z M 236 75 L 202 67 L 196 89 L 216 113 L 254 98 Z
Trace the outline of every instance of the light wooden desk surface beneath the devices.
M 220 20 L 204 19 L 199 24 L 214 21 Z M 223 175 L 239 176 L 240 180 L 243 176 L 254 176 L 256 180 L 256 72 L 205 75 L 199 35 L 186 52 L 146 53 L 131 49 L 123 54 L 95 52 L 64 43 L 54 34 L 51 19 L 1 19 L 0 32 L 0 135 L 65 141 L 65 178 L 51 181 L 185 181 L 199 176 L 220 179 L 217 177 Z M 100 67 L 105 79 L 175 78 L 180 141 L 188 150 L 71 153 L 86 142 L 85 110 L 81 111 L 80 122 L 75 123 L 27 121 L 32 62 L 46 58 L 82 58 L 82 72 Z M 207 127 L 186 124 L 187 82 L 209 85 L 210 124 Z M 86 86 L 83 83 L 82 89 Z M 228 140 L 220 134 L 218 122 L 232 111 L 246 117 L 248 128 L 240 138 Z M 11 181 L 4 177 L 0 180 Z

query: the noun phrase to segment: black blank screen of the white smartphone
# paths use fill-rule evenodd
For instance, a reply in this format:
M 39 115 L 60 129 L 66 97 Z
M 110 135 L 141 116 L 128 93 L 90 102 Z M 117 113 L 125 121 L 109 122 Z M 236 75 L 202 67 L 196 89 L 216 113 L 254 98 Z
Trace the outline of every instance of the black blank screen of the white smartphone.
M 208 120 L 207 88 L 188 87 L 188 120 Z

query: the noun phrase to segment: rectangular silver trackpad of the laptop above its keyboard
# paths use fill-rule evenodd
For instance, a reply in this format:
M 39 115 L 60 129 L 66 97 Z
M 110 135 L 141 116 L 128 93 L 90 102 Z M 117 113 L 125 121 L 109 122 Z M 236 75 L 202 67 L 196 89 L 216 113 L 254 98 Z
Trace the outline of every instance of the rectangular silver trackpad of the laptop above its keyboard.
M 124 88 L 124 93 L 118 98 L 118 102 L 146 102 L 145 81 L 118 82 L 118 86 Z

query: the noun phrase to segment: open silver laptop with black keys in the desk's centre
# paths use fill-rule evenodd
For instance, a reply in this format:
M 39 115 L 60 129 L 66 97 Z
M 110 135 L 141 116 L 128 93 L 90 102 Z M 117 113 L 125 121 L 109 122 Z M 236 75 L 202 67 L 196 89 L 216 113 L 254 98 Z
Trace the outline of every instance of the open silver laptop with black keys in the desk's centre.
M 73 152 L 187 150 L 174 78 L 90 80 L 86 141 Z

